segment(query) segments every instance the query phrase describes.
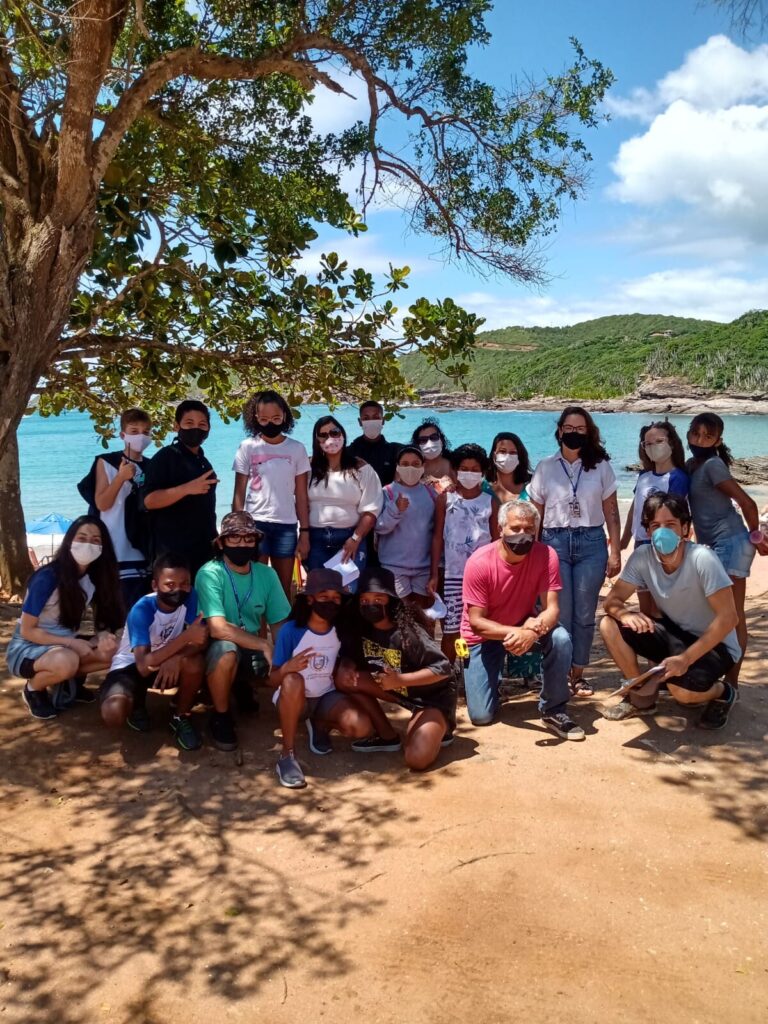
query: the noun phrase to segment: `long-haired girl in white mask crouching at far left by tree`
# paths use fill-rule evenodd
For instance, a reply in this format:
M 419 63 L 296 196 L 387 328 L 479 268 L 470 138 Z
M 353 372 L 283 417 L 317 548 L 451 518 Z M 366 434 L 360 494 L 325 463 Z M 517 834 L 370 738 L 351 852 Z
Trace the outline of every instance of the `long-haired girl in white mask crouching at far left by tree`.
M 96 633 L 86 637 L 79 631 L 89 604 Z M 59 708 L 96 699 L 85 677 L 108 668 L 124 620 L 106 526 L 94 516 L 80 516 L 53 560 L 30 580 L 6 651 L 8 671 L 27 680 L 22 697 L 33 718 L 53 719 Z

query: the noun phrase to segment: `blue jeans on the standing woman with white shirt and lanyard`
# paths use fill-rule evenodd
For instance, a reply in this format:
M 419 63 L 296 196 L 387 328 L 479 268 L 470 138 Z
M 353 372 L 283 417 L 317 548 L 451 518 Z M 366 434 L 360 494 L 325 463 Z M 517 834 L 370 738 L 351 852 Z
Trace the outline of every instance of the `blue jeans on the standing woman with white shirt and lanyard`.
M 542 530 L 542 540 L 560 559 L 560 625 L 573 641 L 573 665 L 590 664 L 595 614 L 608 564 L 608 545 L 602 526 Z

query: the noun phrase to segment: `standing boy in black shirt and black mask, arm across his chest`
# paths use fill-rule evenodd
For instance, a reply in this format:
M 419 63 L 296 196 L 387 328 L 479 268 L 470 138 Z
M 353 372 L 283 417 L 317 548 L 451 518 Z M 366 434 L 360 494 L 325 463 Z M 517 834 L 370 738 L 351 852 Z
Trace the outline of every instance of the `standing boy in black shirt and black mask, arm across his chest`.
M 218 479 L 201 446 L 211 429 L 208 407 L 194 398 L 182 401 L 174 429 L 176 440 L 148 463 L 141 493 L 151 513 L 153 555 L 183 555 L 194 580 L 216 537 Z

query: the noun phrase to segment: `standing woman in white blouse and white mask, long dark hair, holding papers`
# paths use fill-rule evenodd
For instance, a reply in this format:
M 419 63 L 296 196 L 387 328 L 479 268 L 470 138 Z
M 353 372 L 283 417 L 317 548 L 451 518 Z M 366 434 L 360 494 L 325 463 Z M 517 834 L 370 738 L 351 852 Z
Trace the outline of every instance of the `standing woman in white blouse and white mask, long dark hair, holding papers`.
M 346 432 L 333 416 L 314 424 L 310 465 L 306 567 L 319 568 L 343 550 L 344 561 L 352 559 L 362 569 L 368 548 L 361 542 L 381 512 L 381 481 L 349 451 Z

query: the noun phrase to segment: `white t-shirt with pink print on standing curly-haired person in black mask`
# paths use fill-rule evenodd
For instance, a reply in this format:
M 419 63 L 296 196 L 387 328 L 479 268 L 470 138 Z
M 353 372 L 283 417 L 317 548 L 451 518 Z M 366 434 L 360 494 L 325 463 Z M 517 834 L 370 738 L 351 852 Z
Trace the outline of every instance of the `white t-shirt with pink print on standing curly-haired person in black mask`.
M 232 469 L 247 476 L 246 512 L 264 522 L 296 522 L 296 477 L 309 472 L 301 441 L 284 438 L 270 444 L 247 437 L 238 449 Z

